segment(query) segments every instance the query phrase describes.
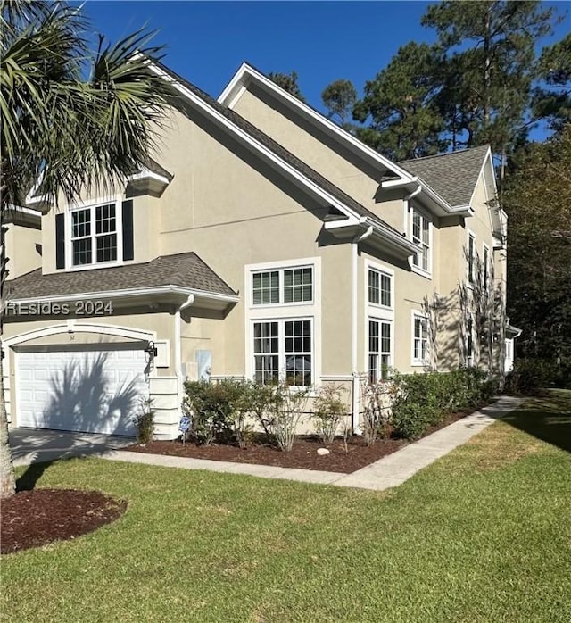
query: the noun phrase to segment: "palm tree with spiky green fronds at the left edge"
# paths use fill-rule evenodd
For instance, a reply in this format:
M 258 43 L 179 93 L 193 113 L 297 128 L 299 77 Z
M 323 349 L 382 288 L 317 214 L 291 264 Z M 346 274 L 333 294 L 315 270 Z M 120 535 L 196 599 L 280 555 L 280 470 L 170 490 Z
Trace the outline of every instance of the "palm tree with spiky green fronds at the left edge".
M 174 92 L 147 70 L 161 48 L 139 30 L 110 46 L 87 42 L 88 22 L 63 2 L 0 1 L 1 213 L 29 189 L 67 199 L 108 187 L 140 169 Z M 0 346 L 4 320 L 4 231 L 0 246 Z M 14 493 L 0 357 L 0 499 Z

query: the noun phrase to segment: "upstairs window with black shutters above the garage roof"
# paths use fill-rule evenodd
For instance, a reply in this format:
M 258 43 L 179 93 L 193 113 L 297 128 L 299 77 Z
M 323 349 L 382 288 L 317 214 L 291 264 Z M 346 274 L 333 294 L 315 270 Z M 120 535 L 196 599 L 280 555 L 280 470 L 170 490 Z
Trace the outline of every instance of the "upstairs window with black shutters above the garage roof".
M 71 208 L 55 215 L 55 267 L 74 269 L 132 260 L 133 201 Z

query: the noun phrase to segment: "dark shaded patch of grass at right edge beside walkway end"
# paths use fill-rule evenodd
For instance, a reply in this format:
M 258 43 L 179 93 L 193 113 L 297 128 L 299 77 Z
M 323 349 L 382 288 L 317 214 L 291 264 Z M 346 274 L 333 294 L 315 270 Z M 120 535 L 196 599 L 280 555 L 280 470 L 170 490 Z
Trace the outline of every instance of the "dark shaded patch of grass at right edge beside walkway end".
M 571 453 L 571 392 L 548 390 L 501 420 Z

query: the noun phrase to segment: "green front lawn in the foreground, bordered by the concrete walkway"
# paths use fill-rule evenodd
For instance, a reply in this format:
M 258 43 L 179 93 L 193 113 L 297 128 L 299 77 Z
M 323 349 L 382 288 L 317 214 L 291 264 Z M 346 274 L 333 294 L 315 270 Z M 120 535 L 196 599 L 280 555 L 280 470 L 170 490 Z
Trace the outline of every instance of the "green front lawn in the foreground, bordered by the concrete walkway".
M 534 399 L 382 493 L 54 463 L 39 486 L 100 489 L 128 511 L 3 557 L 2 620 L 567 622 L 570 413 L 571 392 Z

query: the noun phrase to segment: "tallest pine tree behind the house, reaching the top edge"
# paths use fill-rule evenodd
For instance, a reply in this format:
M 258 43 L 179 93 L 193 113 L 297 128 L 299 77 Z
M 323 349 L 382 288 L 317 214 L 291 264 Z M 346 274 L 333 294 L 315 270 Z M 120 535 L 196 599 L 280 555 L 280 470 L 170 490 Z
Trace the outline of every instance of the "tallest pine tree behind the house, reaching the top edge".
M 436 30 L 447 71 L 440 93 L 446 129 L 457 146 L 492 145 L 501 160 L 525 131 L 535 78 L 537 41 L 551 29 L 553 9 L 539 2 L 443 2 L 422 24 Z

